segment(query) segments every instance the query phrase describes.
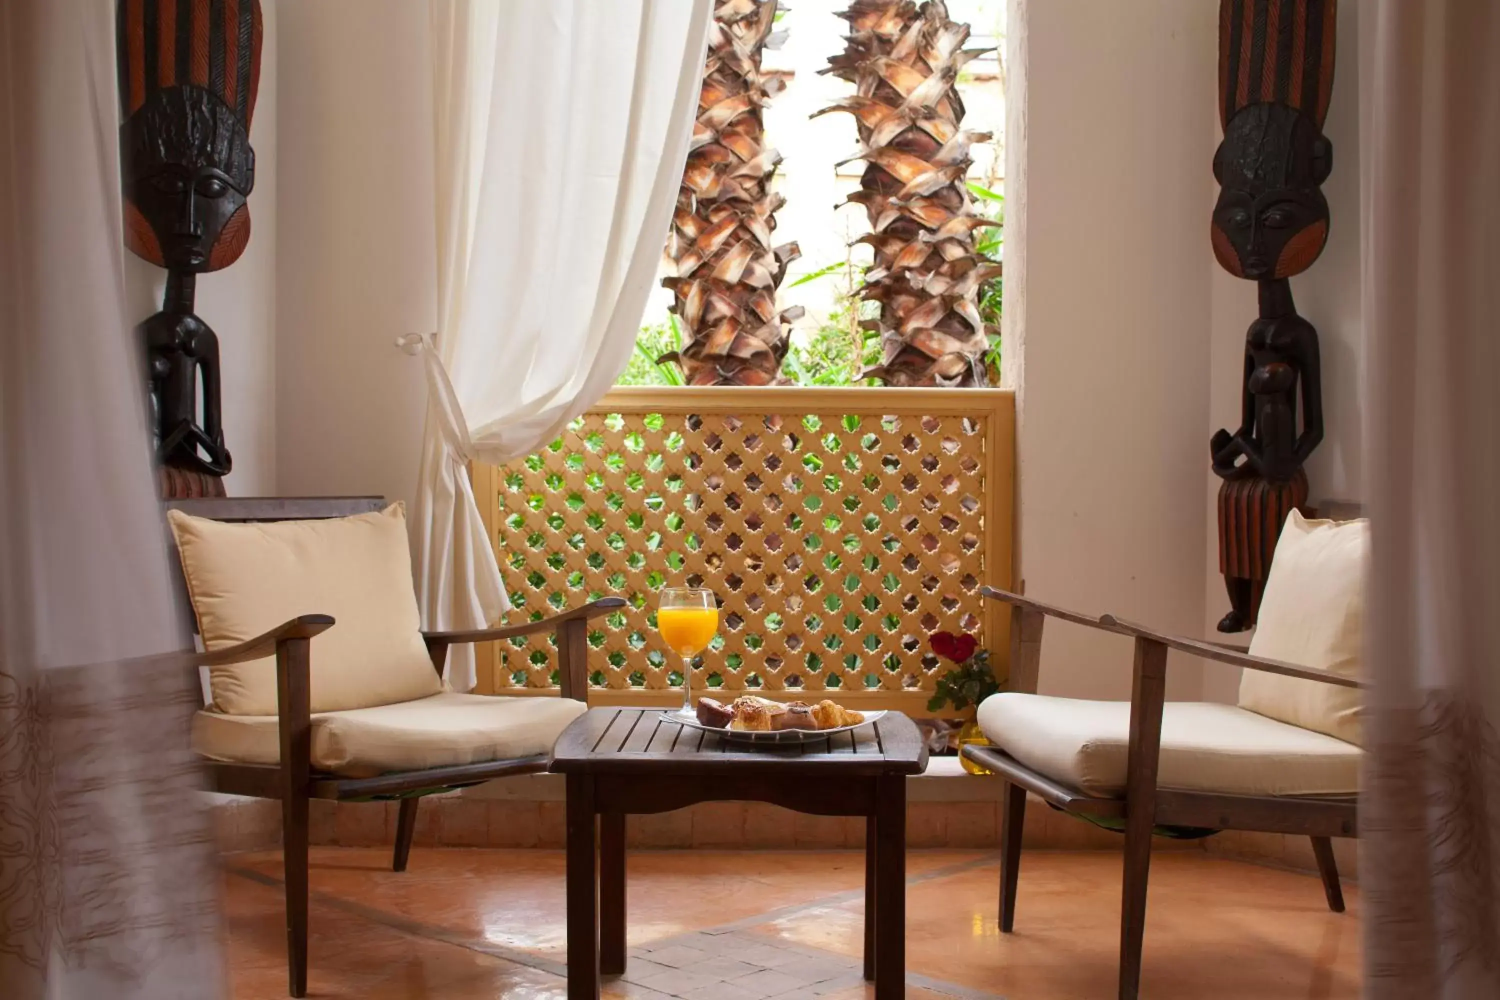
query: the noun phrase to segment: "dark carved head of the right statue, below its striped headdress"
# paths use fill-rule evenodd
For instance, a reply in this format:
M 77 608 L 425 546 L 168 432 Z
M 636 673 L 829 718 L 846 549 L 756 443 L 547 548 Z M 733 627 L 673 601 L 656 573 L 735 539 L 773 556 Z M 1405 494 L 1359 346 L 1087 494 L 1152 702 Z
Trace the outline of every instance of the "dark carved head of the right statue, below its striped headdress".
M 1214 255 L 1251 280 L 1300 274 L 1328 243 L 1320 184 L 1334 148 L 1305 114 L 1282 103 L 1240 108 L 1214 154 L 1222 190 L 1214 205 Z

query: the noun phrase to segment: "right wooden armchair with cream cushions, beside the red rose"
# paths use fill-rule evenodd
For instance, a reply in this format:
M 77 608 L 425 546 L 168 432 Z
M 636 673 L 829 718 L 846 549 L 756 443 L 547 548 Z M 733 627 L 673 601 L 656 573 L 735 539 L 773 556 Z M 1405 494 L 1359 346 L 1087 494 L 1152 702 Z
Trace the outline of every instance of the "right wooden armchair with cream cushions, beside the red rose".
M 1322 522 L 1324 526 L 1330 522 Z M 1362 525 L 1364 522 L 1360 522 Z M 1298 531 L 1324 531 L 1296 517 Z M 1360 529 L 1362 531 L 1362 529 Z M 1342 642 L 1346 652 L 1360 634 L 1365 537 L 1346 538 L 1344 552 L 1335 553 L 1341 565 L 1328 577 L 1311 574 L 1312 597 L 1288 577 L 1302 571 L 1298 556 L 1282 535 L 1272 577 L 1268 582 L 1260 630 L 1269 637 L 1269 609 L 1312 606 L 1328 597 L 1335 612 L 1352 609 L 1341 627 L 1341 637 L 1323 643 L 1310 655 L 1326 658 Z M 1324 558 L 1326 556 L 1318 556 Z M 1324 562 L 1326 565 L 1326 562 Z M 1348 594 L 1338 604 L 1341 579 Z M 1150 871 L 1150 837 L 1158 826 L 1198 828 L 1206 831 L 1257 831 L 1310 837 L 1323 879 L 1328 906 L 1344 910 L 1338 868 L 1334 864 L 1332 837 L 1358 835 L 1358 789 L 1360 748 L 1348 738 L 1358 736 L 1352 720 L 1354 699 L 1320 700 L 1328 688 L 1300 685 L 1290 690 L 1293 715 L 1300 724 L 1281 721 L 1286 706 L 1269 705 L 1263 684 L 1254 678 L 1288 678 L 1347 691 L 1366 687 L 1362 681 L 1330 669 L 1298 666 L 1282 660 L 1250 655 L 1214 643 L 1178 639 L 1120 621 L 1110 615 L 1090 618 L 1034 601 L 1018 594 L 984 588 L 984 595 L 1011 606 L 1011 691 L 986 699 L 978 720 L 992 747 L 966 745 L 963 754 L 988 768 L 1010 784 L 1004 798 L 1000 825 L 1000 900 L 999 924 L 1010 933 L 1016 922 L 1016 882 L 1020 874 L 1022 826 L 1026 793 L 1032 792 L 1065 813 L 1124 825 L 1125 883 L 1120 913 L 1119 997 L 1134 1000 L 1140 991 L 1142 940 L 1146 924 L 1146 882 Z M 1275 613 L 1274 610 L 1270 612 Z M 1136 645 L 1131 700 L 1082 702 L 1036 694 L 1042 627 L 1048 618 L 1088 628 L 1126 636 Z M 1293 642 L 1305 640 L 1306 630 L 1290 628 Z M 1257 636 L 1260 642 L 1262 636 Z M 1286 648 L 1284 645 L 1281 648 Z M 1240 706 L 1204 702 L 1166 702 L 1167 652 L 1185 652 L 1244 667 Z M 1358 657 L 1358 652 L 1354 654 Z M 1347 667 L 1347 657 L 1344 661 Z M 1310 696 L 1311 693 L 1311 696 Z M 1272 691 L 1272 694 L 1276 694 Z M 1280 691 L 1287 694 L 1287 690 Z M 1252 705 L 1254 711 L 1244 708 Z M 1320 721 L 1317 714 L 1324 718 Z M 1332 718 L 1332 721 L 1329 721 Z M 1329 732 L 1346 736 L 1344 739 Z

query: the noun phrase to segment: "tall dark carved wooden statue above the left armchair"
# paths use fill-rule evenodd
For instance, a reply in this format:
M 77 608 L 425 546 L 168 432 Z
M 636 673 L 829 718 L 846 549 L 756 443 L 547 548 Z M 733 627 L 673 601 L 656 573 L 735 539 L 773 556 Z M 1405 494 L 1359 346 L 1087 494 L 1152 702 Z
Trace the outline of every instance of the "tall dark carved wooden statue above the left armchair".
M 250 240 L 261 31 L 260 0 L 117 0 L 124 244 L 166 268 L 162 310 L 136 328 L 166 498 L 224 496 L 231 468 L 219 339 L 194 292 Z

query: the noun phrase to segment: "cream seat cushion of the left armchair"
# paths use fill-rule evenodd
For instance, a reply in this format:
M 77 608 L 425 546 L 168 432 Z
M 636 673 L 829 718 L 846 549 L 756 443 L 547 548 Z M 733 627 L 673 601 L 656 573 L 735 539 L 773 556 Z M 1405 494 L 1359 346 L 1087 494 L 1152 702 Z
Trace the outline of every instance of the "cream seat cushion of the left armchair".
M 429 667 L 430 670 L 430 667 Z M 573 699 L 444 691 L 416 702 L 312 717 L 312 766 L 346 778 L 550 754 L 588 706 Z M 274 715 L 198 712 L 194 748 L 213 760 L 274 765 Z

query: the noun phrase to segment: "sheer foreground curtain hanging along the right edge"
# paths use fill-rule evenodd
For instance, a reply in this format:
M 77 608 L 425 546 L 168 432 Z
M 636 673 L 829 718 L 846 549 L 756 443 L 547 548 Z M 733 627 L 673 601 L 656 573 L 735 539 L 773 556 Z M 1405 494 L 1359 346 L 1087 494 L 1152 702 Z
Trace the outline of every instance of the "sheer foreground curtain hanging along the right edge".
M 1380 0 L 1365 90 L 1376 528 L 1365 990 L 1500 997 L 1500 3 Z

